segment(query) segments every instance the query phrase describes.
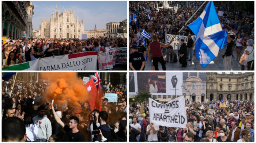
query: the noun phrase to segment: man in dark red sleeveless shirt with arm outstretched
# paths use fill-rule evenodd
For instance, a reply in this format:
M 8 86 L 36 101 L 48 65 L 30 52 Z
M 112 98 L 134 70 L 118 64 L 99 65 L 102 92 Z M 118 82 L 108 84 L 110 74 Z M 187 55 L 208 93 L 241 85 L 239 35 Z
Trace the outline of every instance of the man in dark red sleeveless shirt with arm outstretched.
M 166 48 L 166 47 L 170 46 L 172 42 L 173 42 L 173 39 L 170 40 L 170 42 L 166 45 L 161 42 L 158 42 L 157 35 L 152 36 L 152 42 L 149 43 L 149 46 L 147 49 L 147 54 L 149 55 L 149 51 L 150 50 L 152 51 L 153 65 L 155 66 L 155 70 L 159 70 L 158 69 L 158 61 L 161 63 L 162 69 L 166 70 L 165 61 L 163 59 L 161 47 Z M 148 58 L 150 59 L 150 57 L 148 57 Z

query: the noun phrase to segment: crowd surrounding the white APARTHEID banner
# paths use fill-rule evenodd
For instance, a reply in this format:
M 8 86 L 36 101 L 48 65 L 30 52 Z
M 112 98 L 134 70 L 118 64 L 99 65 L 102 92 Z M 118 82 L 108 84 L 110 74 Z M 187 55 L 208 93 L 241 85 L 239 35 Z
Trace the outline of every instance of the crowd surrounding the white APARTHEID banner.
M 133 142 L 254 142 L 254 102 L 186 102 L 186 128 L 165 127 L 150 122 L 148 101 L 129 105 L 129 140 Z M 161 101 L 161 104 L 167 101 Z M 231 104 L 232 103 L 232 104 Z M 215 112 L 209 113 L 209 109 Z

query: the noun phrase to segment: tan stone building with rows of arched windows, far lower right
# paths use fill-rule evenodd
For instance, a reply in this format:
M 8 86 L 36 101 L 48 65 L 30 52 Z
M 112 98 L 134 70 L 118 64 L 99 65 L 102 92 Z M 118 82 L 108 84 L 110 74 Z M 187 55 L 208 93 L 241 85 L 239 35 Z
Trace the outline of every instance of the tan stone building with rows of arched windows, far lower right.
M 207 73 L 208 100 L 254 100 L 254 73 Z

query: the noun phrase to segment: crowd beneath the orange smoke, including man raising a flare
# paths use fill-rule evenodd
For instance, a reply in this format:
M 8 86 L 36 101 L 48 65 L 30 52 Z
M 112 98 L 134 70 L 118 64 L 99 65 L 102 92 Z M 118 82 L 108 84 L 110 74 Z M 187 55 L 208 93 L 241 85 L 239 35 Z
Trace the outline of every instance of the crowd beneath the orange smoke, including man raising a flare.
M 23 78 L 2 81 L 2 140 L 26 142 L 127 141 L 126 85 L 103 87 L 101 111 L 88 101 L 80 109 L 68 103 L 51 105 L 46 98 L 49 82 Z M 13 88 L 12 88 L 13 87 Z M 108 103 L 105 93 L 118 94 Z M 125 97 L 125 100 L 124 100 Z

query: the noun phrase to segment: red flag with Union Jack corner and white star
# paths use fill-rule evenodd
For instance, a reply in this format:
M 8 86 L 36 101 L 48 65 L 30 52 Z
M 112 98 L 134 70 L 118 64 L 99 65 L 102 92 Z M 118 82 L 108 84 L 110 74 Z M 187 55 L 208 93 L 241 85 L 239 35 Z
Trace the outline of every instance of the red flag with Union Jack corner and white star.
M 87 88 L 91 97 L 88 100 L 91 110 L 98 109 L 101 111 L 102 87 L 100 73 L 95 73 L 84 86 Z

